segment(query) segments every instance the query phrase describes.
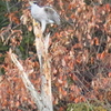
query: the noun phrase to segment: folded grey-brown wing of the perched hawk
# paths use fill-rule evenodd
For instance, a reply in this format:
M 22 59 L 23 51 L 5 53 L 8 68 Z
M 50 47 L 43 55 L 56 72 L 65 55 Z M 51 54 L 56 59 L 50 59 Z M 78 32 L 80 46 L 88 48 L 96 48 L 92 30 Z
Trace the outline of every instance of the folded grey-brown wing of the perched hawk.
M 48 18 L 54 21 L 57 24 L 60 24 L 60 16 L 58 12 L 51 7 L 43 7 Z

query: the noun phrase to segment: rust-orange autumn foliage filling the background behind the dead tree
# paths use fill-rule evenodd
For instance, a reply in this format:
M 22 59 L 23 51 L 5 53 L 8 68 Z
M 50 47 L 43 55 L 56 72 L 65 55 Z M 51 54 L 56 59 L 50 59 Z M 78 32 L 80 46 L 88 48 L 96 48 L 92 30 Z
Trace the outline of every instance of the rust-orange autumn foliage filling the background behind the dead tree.
M 16 4 L 12 2 L 14 1 Z M 88 2 L 90 1 L 90 2 Z M 6 0 L 8 22 L 0 29 L 0 111 L 37 111 L 37 107 L 9 57 L 12 48 L 36 89 L 40 91 L 40 65 L 34 49 L 28 0 Z M 53 107 L 89 102 L 111 108 L 111 4 L 99 0 L 41 0 L 61 16 L 51 32 L 49 57 Z M 11 9 L 13 7 L 13 9 Z

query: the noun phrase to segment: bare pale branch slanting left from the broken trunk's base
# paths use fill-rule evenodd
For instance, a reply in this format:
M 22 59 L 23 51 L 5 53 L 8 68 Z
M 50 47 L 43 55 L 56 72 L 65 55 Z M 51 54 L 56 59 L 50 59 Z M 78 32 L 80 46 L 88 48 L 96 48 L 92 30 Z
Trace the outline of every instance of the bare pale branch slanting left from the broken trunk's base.
M 11 60 L 13 61 L 13 63 L 18 67 L 19 71 L 21 72 L 21 79 L 26 85 L 26 88 L 30 91 L 31 97 L 33 98 L 34 102 L 38 105 L 38 109 L 41 111 L 42 108 L 42 102 L 41 102 L 41 95 L 39 94 L 39 92 L 34 89 L 33 84 L 30 82 L 29 78 L 28 78 L 28 72 L 24 71 L 23 67 L 21 65 L 21 63 L 17 60 L 17 57 L 14 53 L 12 53 L 11 49 L 9 51 L 9 54 L 11 57 Z

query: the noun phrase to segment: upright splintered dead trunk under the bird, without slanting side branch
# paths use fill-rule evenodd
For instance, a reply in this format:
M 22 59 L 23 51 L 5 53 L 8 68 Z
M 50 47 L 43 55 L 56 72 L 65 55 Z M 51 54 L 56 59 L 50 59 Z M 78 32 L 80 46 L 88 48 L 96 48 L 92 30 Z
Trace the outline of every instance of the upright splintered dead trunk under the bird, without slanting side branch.
M 36 36 L 36 48 L 40 63 L 40 75 L 41 75 L 41 99 L 43 103 L 42 111 L 53 111 L 52 107 L 52 92 L 51 92 L 51 67 L 50 57 L 48 53 L 49 37 L 43 37 L 40 26 L 36 26 L 33 20 L 33 32 Z

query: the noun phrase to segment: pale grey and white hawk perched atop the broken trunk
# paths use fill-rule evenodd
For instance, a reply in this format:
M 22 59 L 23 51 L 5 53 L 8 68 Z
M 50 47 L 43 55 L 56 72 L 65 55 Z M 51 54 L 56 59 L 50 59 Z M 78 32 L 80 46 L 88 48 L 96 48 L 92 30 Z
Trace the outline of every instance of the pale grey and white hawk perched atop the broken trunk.
M 29 3 L 31 6 L 31 16 L 37 22 L 40 22 L 42 32 L 46 31 L 47 24 L 60 24 L 60 16 L 52 7 L 39 7 L 34 1 Z

